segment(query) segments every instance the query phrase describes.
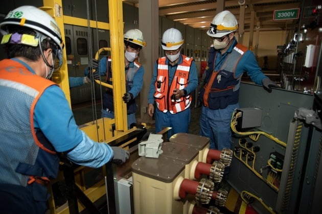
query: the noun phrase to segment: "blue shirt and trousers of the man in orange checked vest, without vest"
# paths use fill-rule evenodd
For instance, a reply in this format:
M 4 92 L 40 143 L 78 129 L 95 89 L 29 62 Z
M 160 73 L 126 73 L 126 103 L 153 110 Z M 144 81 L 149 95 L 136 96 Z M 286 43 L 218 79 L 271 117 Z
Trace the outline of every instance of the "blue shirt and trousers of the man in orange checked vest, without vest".
M 183 61 L 182 55 L 180 55 L 178 62 L 172 66 L 170 64 L 169 59 L 166 59 L 166 64 L 168 65 L 168 77 L 169 77 L 169 87 L 172 83 L 174 74 L 176 73 L 177 66 L 180 65 Z M 150 90 L 148 93 L 148 103 L 154 104 L 155 98 L 154 94 L 156 91 L 156 79 L 158 76 L 158 61 L 154 64 L 153 70 L 153 77 L 151 79 Z M 191 62 L 190 69 L 189 69 L 189 78 L 188 78 L 188 85 L 184 89 L 187 91 L 187 94 L 193 92 L 198 85 L 198 77 L 197 77 L 197 67 L 194 60 Z M 155 115 L 155 132 L 158 133 L 163 129 L 163 127 L 171 127 L 172 129 L 169 132 L 169 136 L 176 134 L 176 133 L 188 133 L 189 131 L 189 124 L 190 124 L 190 108 L 187 108 L 183 111 L 177 113 L 171 113 L 170 111 L 162 112 L 158 108 L 154 110 Z

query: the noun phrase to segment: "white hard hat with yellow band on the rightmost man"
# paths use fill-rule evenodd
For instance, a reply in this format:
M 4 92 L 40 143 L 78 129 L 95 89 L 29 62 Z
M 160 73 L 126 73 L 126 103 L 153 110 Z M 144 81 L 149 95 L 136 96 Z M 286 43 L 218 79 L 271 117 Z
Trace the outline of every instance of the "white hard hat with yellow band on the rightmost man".
M 223 37 L 237 29 L 238 23 L 234 14 L 224 10 L 214 17 L 207 34 L 212 37 Z

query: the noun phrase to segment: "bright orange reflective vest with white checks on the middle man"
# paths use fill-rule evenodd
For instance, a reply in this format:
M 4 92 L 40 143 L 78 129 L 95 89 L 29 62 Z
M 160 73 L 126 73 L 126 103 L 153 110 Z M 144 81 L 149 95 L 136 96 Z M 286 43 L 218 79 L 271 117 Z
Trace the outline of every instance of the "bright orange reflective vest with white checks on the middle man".
M 177 65 L 170 88 L 166 57 L 158 59 L 154 98 L 157 108 L 164 113 L 170 111 L 171 114 L 175 114 L 189 108 L 191 104 L 190 94 L 180 97 L 174 102 L 171 101 L 172 92 L 175 88 L 181 90 L 188 85 L 189 71 L 193 59 L 184 55 L 182 55 L 182 58 L 182 63 Z

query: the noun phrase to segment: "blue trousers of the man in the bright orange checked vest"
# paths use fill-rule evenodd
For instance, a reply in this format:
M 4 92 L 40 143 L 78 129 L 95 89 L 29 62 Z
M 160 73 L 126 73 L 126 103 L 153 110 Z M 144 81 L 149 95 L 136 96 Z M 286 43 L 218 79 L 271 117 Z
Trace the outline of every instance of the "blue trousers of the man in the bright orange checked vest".
M 163 113 L 157 108 L 154 111 L 155 115 L 155 133 L 158 133 L 164 127 L 171 127 L 169 137 L 176 133 L 188 133 L 190 124 L 190 108 L 179 113 L 171 114 L 169 111 Z

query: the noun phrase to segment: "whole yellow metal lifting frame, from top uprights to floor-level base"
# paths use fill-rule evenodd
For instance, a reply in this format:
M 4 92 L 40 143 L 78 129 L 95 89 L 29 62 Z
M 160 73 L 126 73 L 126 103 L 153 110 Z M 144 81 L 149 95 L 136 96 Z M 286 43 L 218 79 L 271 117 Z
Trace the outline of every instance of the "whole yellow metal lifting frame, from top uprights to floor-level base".
M 111 48 L 105 50 L 111 51 L 111 56 L 113 58 L 112 63 L 112 75 L 113 75 L 113 85 L 100 83 L 105 87 L 113 89 L 113 99 L 114 99 L 114 114 L 115 119 L 101 118 L 94 122 L 89 122 L 80 126 L 80 129 L 83 130 L 91 139 L 108 143 L 112 140 L 118 139 L 126 135 L 127 133 L 135 130 L 127 130 L 127 112 L 126 104 L 122 100 L 122 96 L 126 91 L 125 86 L 125 66 L 124 66 L 124 43 L 123 43 L 123 9 L 122 9 L 122 0 L 106 0 L 108 2 L 109 8 L 109 23 L 87 20 L 82 18 L 76 18 L 71 16 L 65 16 L 62 12 L 62 1 L 61 0 L 43 0 L 42 10 L 48 12 L 57 22 L 58 27 L 61 29 L 61 36 L 63 43 L 65 44 L 65 32 L 64 24 L 87 27 L 88 23 L 91 28 L 99 28 L 110 31 L 110 44 Z M 99 53 L 96 54 L 96 58 L 99 58 Z M 68 82 L 68 70 L 67 70 L 67 61 L 66 61 L 66 50 L 63 50 L 63 64 L 59 71 L 54 72 L 52 80 L 56 82 L 61 89 L 64 91 L 66 99 L 71 106 L 70 98 L 70 86 Z M 112 137 L 112 125 L 115 124 L 116 132 Z M 101 128 L 100 128 L 101 127 Z M 108 140 L 107 140 L 108 139 Z M 128 148 L 128 144 L 135 139 L 132 139 L 128 142 L 125 142 L 124 145 L 121 145 L 122 148 Z M 105 183 L 104 181 L 97 182 L 94 186 L 91 186 L 86 189 L 84 183 L 84 174 L 90 171 L 90 168 L 79 167 L 74 170 L 75 181 L 77 185 L 82 189 L 84 194 L 92 201 L 98 200 L 100 197 L 106 194 Z M 102 169 L 103 175 L 105 174 L 104 167 Z M 58 180 L 62 180 L 62 173 L 58 175 Z M 55 182 L 55 181 L 53 181 Z M 49 192 L 52 195 L 51 185 L 49 185 Z M 63 205 L 59 208 L 55 208 L 55 202 L 53 197 L 49 201 L 51 213 L 68 213 L 68 205 Z M 67 204 L 67 203 L 66 203 Z M 83 210 L 84 207 L 82 204 L 79 204 L 79 210 Z

